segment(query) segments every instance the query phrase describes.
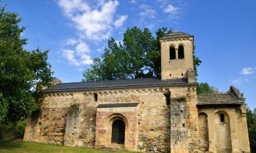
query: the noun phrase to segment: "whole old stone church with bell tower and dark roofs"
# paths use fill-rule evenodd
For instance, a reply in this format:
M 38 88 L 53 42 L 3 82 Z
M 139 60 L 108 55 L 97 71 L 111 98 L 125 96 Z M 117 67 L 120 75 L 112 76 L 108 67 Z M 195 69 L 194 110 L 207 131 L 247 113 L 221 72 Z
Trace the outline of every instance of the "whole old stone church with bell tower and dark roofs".
M 135 152 L 250 152 L 240 92 L 197 95 L 194 36 L 160 39 L 161 79 L 59 83 L 43 90 L 24 141 Z

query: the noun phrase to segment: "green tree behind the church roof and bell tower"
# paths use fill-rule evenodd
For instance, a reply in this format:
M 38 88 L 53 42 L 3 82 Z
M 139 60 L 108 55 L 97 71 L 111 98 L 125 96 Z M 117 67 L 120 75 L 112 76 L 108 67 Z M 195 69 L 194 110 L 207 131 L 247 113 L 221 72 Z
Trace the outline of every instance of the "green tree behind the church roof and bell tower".
M 171 29 L 166 27 L 158 29 L 155 37 L 149 29 L 128 28 L 122 42 L 109 39 L 102 59 L 94 58 L 91 67 L 83 73 L 82 81 L 160 78 L 159 39 L 167 33 L 171 33 Z M 194 55 L 196 74 L 200 63 Z

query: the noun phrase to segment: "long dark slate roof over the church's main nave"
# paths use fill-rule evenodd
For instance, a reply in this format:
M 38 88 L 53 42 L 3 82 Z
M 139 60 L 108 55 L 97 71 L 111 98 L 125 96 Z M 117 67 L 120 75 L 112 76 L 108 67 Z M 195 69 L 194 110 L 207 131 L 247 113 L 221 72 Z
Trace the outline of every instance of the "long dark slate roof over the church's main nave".
M 56 84 L 43 92 L 66 92 L 66 91 L 89 91 L 89 90 L 112 90 L 124 88 L 146 88 L 164 86 L 187 86 L 195 83 L 187 83 L 187 79 L 159 80 L 156 78 L 142 78 L 132 80 L 111 80 L 100 82 L 73 82 Z

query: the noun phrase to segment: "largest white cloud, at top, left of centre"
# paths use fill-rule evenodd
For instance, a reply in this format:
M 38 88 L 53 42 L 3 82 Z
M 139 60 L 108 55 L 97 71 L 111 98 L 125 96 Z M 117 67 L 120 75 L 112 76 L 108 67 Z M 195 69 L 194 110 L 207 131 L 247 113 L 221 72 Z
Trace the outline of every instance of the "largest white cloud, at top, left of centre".
M 128 16 L 115 18 L 117 0 L 98 1 L 97 7 L 90 7 L 81 0 L 59 0 L 59 6 L 72 20 L 76 29 L 88 39 L 100 41 L 109 39 L 114 27 L 120 27 Z

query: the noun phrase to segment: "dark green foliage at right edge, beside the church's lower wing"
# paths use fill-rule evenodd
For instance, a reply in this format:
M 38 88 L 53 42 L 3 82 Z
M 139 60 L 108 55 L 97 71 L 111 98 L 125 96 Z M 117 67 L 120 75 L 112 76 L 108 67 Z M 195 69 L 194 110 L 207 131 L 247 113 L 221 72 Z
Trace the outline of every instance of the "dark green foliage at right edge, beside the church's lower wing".
M 251 109 L 246 109 L 248 134 L 250 140 L 251 152 L 256 152 L 256 114 Z

